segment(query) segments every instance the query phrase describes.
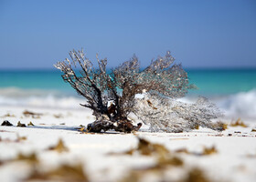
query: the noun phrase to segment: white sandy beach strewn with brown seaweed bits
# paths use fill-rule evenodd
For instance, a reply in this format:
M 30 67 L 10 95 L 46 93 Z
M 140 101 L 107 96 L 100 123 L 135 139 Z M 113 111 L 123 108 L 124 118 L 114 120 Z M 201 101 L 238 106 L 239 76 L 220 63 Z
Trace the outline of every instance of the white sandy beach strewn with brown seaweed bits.
M 25 116 L 25 110 L 41 115 Z M 199 127 L 149 133 L 143 126 L 135 134 L 86 134 L 78 128 L 94 120 L 87 109 L 0 106 L 0 124 L 4 120 L 14 126 L 0 126 L 1 182 L 256 181 L 255 121 L 244 120 L 247 127 L 242 127 L 223 120 L 228 124 L 223 132 Z M 18 121 L 26 127 L 16 126 Z M 27 126 L 30 121 L 34 126 Z M 158 144 L 159 151 L 144 155 L 136 150 L 138 138 Z M 57 146 L 59 139 L 64 147 Z M 179 163 L 166 162 L 174 158 Z

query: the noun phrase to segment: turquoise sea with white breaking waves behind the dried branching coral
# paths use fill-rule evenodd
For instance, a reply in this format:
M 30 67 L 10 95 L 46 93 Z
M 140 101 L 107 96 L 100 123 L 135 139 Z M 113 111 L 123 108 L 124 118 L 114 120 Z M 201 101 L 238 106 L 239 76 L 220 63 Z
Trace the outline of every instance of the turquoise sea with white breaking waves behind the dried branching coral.
M 256 118 L 256 69 L 187 69 L 191 84 L 184 98 L 206 96 L 227 116 Z M 0 70 L 0 106 L 81 109 L 85 99 L 60 77 L 59 70 Z

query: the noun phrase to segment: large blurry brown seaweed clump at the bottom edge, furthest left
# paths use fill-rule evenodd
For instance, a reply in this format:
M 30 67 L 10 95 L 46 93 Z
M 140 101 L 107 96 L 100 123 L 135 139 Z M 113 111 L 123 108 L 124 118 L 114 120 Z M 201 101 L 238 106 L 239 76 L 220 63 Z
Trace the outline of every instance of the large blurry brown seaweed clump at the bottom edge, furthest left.
M 89 177 L 84 173 L 81 164 L 64 164 L 47 172 L 34 169 L 26 181 L 62 181 L 62 182 L 89 182 Z

